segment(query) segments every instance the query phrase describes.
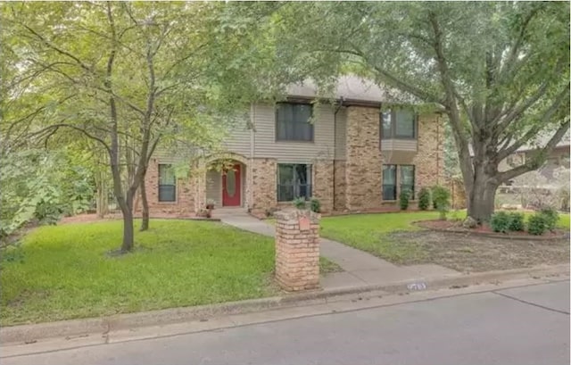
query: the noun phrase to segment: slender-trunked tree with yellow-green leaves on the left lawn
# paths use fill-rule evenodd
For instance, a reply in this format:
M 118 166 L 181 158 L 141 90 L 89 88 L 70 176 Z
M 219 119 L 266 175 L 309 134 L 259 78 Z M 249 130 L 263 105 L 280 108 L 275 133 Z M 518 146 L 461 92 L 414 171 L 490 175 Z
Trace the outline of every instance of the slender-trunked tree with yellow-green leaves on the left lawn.
M 121 252 L 133 248 L 134 198 L 157 145 L 176 138 L 195 148 L 219 143 L 231 121 L 224 114 L 251 90 L 238 72 L 225 77 L 233 60 L 220 51 L 238 51 L 244 22 L 225 29 L 239 23 L 225 20 L 223 9 L 221 3 L 2 5 L 3 46 L 11 56 L 4 73 L 17 75 L 21 91 L 9 95 L 17 107 L 4 114 L 11 135 L 46 142 L 74 133 L 101 146 L 123 215 Z

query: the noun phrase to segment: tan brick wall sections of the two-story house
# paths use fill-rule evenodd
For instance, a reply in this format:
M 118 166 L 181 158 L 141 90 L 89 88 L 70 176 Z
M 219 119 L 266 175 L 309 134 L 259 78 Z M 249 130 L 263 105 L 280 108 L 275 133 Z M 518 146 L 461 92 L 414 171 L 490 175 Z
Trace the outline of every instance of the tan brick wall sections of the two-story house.
M 313 196 L 321 203 L 322 212 L 376 211 L 397 206 L 396 202 L 383 201 L 383 163 L 415 166 L 415 192 L 421 187 L 436 184 L 448 185 L 443 178 L 443 118 L 436 114 L 418 118 L 417 151 L 395 150 L 381 153 L 379 108 L 348 106 L 346 110 L 345 160 L 319 159 L 312 162 Z M 252 214 L 263 217 L 277 207 L 291 203 L 277 203 L 277 159 L 246 159 L 234 155 L 243 163 L 245 178 L 243 206 Z M 194 167 L 191 178 L 178 179 L 177 201 L 158 202 L 158 163 L 149 166 L 145 187 L 153 214 L 192 215 L 203 209 L 206 199 L 205 170 Z M 397 172 L 397 199 L 400 192 L 400 169 Z M 411 209 L 415 202 L 410 203 Z M 140 211 L 140 204 L 136 210 Z M 398 209 L 398 208 L 397 208 Z

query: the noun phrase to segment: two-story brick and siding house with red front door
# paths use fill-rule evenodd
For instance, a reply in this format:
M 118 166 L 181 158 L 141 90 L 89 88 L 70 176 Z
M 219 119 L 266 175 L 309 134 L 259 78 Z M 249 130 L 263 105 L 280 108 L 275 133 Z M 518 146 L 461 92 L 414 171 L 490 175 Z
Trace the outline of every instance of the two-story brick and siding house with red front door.
M 283 103 L 252 104 L 227 153 L 191 167 L 192 178 L 175 178 L 173 157 L 156 153 L 145 179 L 151 214 L 187 215 L 211 199 L 264 215 L 298 196 L 318 198 L 324 212 L 375 211 L 398 206 L 403 189 L 416 197 L 420 187 L 443 184 L 443 117 L 386 110 L 385 95 L 348 76 L 332 104 L 311 104 L 310 83 L 290 87 Z M 219 159 L 233 168 L 211 169 Z

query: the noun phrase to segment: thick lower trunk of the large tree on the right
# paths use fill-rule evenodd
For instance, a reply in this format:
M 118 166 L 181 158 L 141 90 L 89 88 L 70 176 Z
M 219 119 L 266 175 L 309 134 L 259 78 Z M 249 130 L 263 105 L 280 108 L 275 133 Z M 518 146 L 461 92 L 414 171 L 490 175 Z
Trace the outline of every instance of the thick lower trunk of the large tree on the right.
M 487 222 L 492 216 L 495 207 L 496 191 L 498 185 L 491 182 L 488 177 L 478 176 L 476 171 L 476 182 L 468 190 L 468 217 L 472 217 L 478 222 Z

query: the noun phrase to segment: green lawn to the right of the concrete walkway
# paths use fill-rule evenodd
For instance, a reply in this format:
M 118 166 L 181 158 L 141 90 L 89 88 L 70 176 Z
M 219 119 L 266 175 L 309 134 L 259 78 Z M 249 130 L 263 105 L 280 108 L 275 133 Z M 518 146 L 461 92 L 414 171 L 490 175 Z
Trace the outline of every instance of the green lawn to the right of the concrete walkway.
M 526 213 L 530 215 L 531 213 Z M 463 211 L 451 212 L 449 219 L 464 219 Z M 559 227 L 569 228 L 569 214 L 559 214 Z M 398 231 L 414 231 L 420 228 L 412 225 L 415 220 L 434 220 L 438 212 L 399 212 L 379 214 L 354 214 L 325 217 L 321 220 L 321 236 L 351 245 L 372 253 L 387 261 L 406 263 L 422 261 L 426 253 L 415 242 L 395 242 L 387 234 Z

